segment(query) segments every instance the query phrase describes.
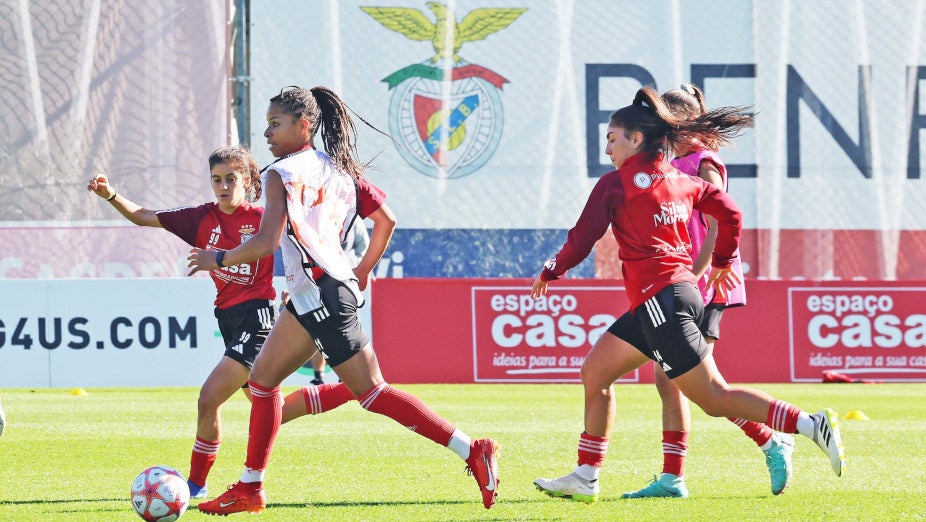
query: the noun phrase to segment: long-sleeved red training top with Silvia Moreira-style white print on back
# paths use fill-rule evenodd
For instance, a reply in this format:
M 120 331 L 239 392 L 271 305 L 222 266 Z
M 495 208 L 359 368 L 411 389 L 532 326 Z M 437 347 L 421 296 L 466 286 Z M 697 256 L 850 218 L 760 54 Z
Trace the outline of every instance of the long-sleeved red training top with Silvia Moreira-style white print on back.
M 693 209 L 717 219 L 712 264 L 730 266 L 742 226 L 742 213 L 733 198 L 701 178 L 680 172 L 662 154 L 631 156 L 620 169 L 598 180 L 566 243 L 546 263 L 540 278 L 563 277 L 588 257 L 610 226 L 631 310 L 670 284 L 697 284 L 686 229 Z

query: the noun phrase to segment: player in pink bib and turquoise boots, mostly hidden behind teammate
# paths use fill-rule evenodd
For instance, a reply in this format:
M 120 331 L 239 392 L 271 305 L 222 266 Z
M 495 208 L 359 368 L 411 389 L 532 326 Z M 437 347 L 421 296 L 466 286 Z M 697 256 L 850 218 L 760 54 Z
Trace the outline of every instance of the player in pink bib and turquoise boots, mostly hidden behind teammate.
M 692 118 L 707 112 L 704 93 L 698 87 L 685 83 L 678 89 L 662 94 L 662 100 L 673 114 Z M 717 155 L 717 145 L 700 141 L 683 141 L 675 145 L 672 165 L 690 176 L 701 179 L 727 190 L 727 168 Z M 692 271 L 698 281 L 698 290 L 704 298 L 704 315 L 700 329 L 707 343 L 707 350 L 713 353 L 714 343 L 720 338 L 720 321 L 724 310 L 746 304 L 745 282 L 732 289 L 726 297 L 715 295 L 707 286 L 711 253 L 717 238 L 717 222 L 714 218 L 697 210 L 692 212 L 687 224 L 691 239 Z M 742 278 L 739 258 L 734 259 L 733 270 Z M 646 487 L 624 498 L 674 497 L 685 498 L 685 457 L 688 453 L 688 433 L 691 431 L 691 411 L 688 399 L 672 384 L 659 366 L 654 366 L 656 389 L 662 401 L 662 474 L 654 477 Z M 765 424 L 745 419 L 730 418 L 765 453 L 765 463 L 771 478 L 772 493 L 780 494 L 791 482 L 791 454 L 794 437 L 787 433 L 773 431 Z

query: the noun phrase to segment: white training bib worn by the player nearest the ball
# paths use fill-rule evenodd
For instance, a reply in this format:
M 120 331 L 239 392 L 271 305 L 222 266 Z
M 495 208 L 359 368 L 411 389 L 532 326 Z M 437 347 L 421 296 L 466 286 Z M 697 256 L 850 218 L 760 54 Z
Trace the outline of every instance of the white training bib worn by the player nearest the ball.
M 307 149 L 270 166 L 286 188 L 286 237 L 281 241 L 283 267 L 290 299 L 300 315 L 322 306 L 312 279 L 317 265 L 344 282 L 363 305 L 363 293 L 350 259 L 341 248 L 351 221 L 357 215 L 357 188 L 353 177 L 341 171 L 322 151 Z

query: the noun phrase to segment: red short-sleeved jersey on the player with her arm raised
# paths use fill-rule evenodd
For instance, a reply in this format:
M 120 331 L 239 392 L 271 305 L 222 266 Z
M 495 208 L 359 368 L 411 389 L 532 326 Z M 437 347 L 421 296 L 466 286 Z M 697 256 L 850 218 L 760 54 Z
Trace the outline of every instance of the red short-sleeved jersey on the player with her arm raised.
M 190 246 L 225 251 L 257 233 L 264 208 L 244 202 L 234 212 L 226 214 L 219 210 L 218 204 L 205 203 L 198 207 L 180 207 L 156 213 L 161 226 Z M 272 255 L 212 270 L 209 275 L 215 283 L 217 308 L 229 308 L 251 299 L 276 299 Z

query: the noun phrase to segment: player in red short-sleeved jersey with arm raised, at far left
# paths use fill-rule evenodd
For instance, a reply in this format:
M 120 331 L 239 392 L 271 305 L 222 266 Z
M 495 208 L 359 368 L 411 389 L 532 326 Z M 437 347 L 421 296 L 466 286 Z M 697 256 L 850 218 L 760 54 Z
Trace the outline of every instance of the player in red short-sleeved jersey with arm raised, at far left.
M 91 179 L 87 190 L 136 225 L 165 228 L 191 246 L 224 252 L 253 237 L 260 227 L 264 209 L 251 204 L 261 195 L 260 172 L 242 147 L 216 150 L 209 156 L 209 169 L 217 202 L 197 207 L 149 210 L 118 194 L 105 175 Z M 276 319 L 272 254 L 212 270 L 209 275 L 216 287 L 215 317 L 225 354 L 199 391 L 196 441 L 187 480 L 191 498 L 207 494 L 206 478 L 221 445 L 219 410 L 239 388 L 250 399 L 248 372 Z M 286 398 L 284 420 L 321 413 L 353 398 L 340 383 L 306 387 Z

